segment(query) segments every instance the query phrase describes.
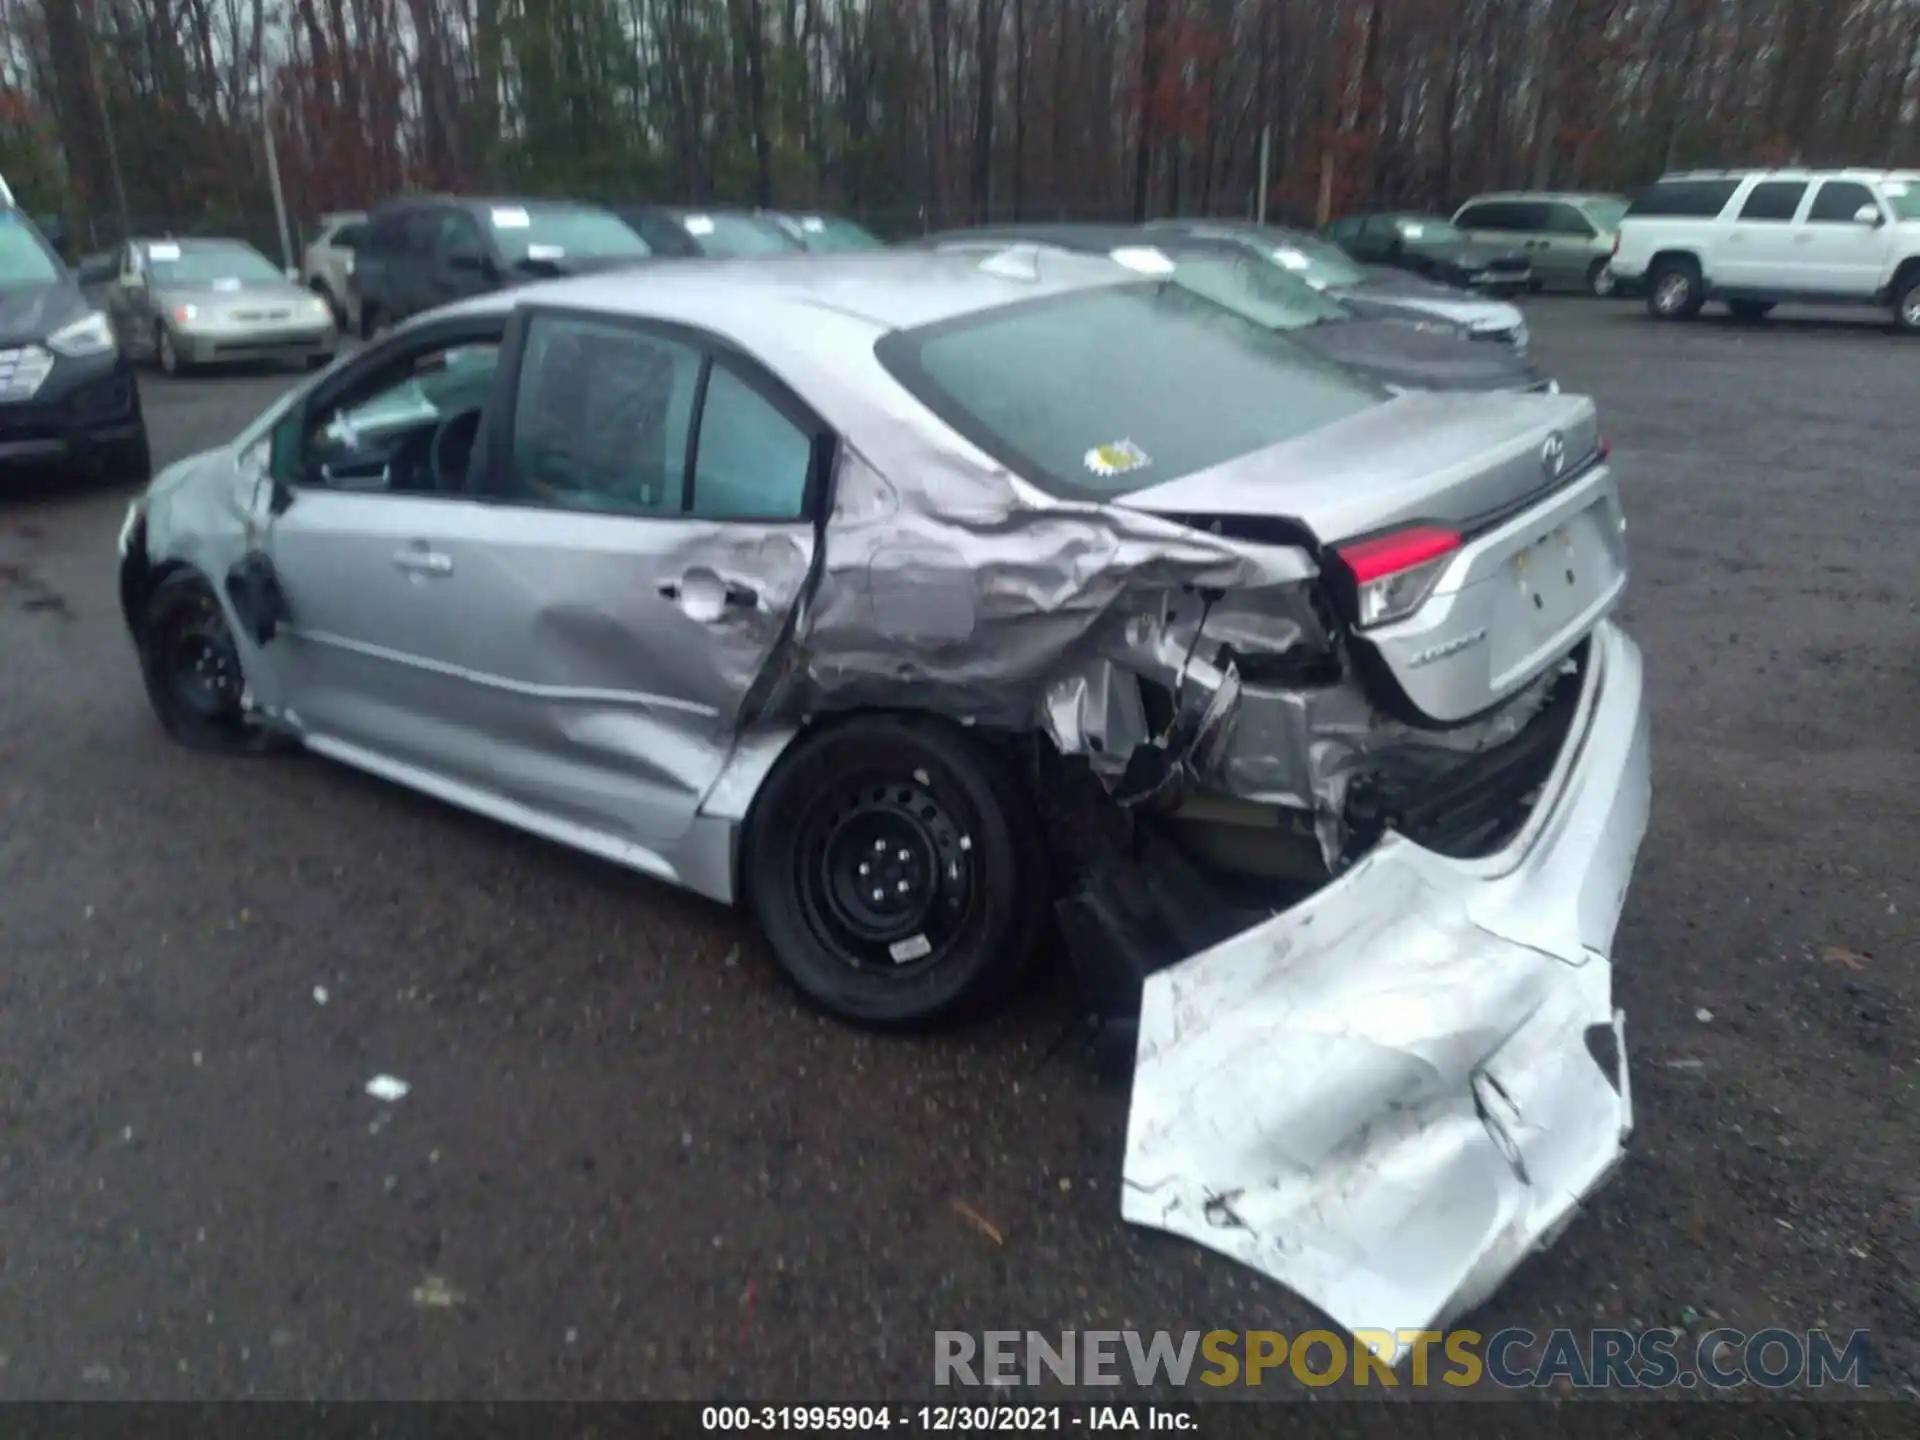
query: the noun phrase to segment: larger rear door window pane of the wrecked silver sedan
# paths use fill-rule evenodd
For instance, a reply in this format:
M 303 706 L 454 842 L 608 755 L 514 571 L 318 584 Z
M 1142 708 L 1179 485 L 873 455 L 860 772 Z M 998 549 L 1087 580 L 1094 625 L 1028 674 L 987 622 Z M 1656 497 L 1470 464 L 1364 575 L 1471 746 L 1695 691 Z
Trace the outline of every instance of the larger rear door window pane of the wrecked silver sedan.
M 703 363 L 693 346 L 630 324 L 536 317 L 513 407 L 511 493 L 557 509 L 680 515 Z

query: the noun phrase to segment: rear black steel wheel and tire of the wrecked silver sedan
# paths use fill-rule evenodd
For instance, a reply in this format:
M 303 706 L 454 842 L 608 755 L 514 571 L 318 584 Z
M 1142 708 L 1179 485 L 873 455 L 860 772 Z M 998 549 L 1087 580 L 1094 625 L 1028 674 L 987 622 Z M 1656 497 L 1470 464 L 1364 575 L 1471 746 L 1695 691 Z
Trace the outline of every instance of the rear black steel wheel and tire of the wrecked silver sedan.
M 1039 824 L 1000 756 L 895 714 L 826 724 L 781 758 L 741 879 L 799 991 L 891 1029 L 1004 1000 L 1052 900 Z

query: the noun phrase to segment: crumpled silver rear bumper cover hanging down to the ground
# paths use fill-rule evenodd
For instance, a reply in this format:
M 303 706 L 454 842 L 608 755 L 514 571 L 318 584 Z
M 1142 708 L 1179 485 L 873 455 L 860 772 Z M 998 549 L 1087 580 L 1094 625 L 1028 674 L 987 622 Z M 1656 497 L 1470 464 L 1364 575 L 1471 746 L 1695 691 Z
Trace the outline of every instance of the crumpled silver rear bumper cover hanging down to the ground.
M 1121 1213 L 1271 1275 L 1394 1359 L 1402 1332 L 1480 1304 L 1632 1129 L 1609 952 L 1649 774 L 1640 651 L 1601 624 L 1505 851 L 1388 837 L 1148 977 Z

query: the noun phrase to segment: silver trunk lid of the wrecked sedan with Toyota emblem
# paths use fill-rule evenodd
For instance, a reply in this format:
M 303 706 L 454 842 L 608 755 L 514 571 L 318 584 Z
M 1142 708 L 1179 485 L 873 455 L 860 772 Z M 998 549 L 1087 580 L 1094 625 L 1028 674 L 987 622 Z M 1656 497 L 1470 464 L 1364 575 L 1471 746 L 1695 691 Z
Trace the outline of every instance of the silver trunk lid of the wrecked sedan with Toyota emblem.
M 1223 530 L 1284 520 L 1325 549 L 1411 524 L 1459 532 L 1417 611 L 1352 634 L 1377 703 L 1450 726 L 1513 697 L 1619 603 L 1626 522 L 1597 449 L 1580 396 L 1402 396 L 1116 503 Z

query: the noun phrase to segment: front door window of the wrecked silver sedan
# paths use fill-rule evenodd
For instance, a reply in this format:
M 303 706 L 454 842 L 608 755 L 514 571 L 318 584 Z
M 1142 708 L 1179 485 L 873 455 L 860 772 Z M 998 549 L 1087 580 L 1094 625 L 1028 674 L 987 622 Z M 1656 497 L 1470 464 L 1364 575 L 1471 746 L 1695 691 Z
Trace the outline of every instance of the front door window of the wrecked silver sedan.
M 497 363 L 493 340 L 394 355 L 301 417 L 296 472 L 282 478 L 324 490 L 459 492 Z

